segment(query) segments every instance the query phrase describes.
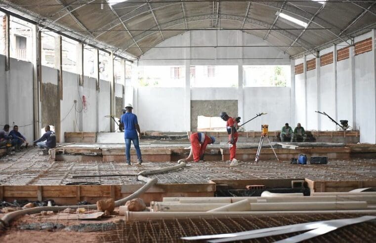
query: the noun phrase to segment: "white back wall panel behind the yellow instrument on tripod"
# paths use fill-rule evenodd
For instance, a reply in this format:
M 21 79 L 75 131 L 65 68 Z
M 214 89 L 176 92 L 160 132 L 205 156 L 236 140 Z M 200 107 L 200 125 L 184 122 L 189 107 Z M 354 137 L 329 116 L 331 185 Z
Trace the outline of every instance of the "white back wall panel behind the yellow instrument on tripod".
M 286 122 L 292 125 L 290 87 L 244 87 L 243 92 L 242 122 L 258 113 L 268 113 L 247 123 L 246 130 L 260 131 L 261 124 L 268 124 L 270 131 L 280 130 Z

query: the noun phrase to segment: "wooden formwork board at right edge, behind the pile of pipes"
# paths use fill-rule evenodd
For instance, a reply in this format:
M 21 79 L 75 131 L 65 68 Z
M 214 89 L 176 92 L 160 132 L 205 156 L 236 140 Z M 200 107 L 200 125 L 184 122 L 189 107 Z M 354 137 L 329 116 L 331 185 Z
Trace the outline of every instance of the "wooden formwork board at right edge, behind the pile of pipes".
M 348 192 L 357 188 L 376 187 L 376 180 L 315 181 L 305 178 L 311 192 Z

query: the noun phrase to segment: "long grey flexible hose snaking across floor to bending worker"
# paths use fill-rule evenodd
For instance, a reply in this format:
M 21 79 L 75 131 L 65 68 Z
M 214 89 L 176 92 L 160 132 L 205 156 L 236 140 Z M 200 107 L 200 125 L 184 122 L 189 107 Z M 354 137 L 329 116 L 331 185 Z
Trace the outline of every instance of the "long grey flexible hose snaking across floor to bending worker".
M 138 176 L 137 176 L 137 180 L 143 181 L 146 184 L 143 185 L 140 189 L 138 189 L 134 193 L 132 193 L 131 195 L 129 195 L 128 197 L 125 197 L 123 199 L 115 201 L 115 206 L 124 205 L 125 202 L 132 200 L 132 199 L 135 199 L 135 198 L 138 198 L 141 194 L 145 193 L 149 188 L 151 188 L 152 186 L 157 184 L 158 179 L 156 177 L 148 178 L 148 177 L 145 177 L 144 175 L 159 174 L 159 173 L 163 173 L 163 172 L 167 172 L 167 171 L 177 170 L 177 169 L 184 167 L 185 165 L 186 165 L 186 163 L 182 162 L 182 163 L 179 163 L 177 165 L 169 166 L 169 167 L 162 168 L 162 169 L 143 170 L 143 171 L 139 172 Z M 81 208 L 84 207 L 84 208 L 87 208 L 87 209 L 96 209 L 97 205 L 96 204 L 89 204 L 89 205 L 80 205 L 80 206 L 78 206 L 78 205 L 73 205 L 73 206 L 72 205 L 71 206 L 42 206 L 42 207 L 33 207 L 33 208 L 22 209 L 22 210 L 7 213 L 4 216 L 2 216 L 2 218 L 0 219 L 0 229 L 5 229 L 7 226 L 9 226 L 9 223 L 14 218 L 16 218 L 18 216 L 25 215 L 25 214 L 40 213 L 42 211 L 57 212 L 57 211 L 62 211 L 66 208 L 77 209 L 79 207 L 81 207 Z

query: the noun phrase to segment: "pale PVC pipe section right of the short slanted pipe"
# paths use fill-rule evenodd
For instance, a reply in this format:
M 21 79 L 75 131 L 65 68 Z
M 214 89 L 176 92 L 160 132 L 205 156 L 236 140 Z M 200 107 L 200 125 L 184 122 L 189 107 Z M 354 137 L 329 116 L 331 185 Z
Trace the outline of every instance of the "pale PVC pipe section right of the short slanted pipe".
M 356 210 L 367 202 L 261 202 L 251 203 L 251 211 Z

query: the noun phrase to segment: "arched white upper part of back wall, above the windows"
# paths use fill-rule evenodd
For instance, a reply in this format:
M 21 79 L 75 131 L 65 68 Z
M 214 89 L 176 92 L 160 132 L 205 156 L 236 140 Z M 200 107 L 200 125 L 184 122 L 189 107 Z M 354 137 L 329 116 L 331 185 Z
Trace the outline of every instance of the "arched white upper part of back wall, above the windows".
M 157 47 L 199 45 L 269 45 L 269 43 L 241 31 L 206 30 L 185 32 L 159 43 Z M 173 60 L 150 60 L 164 58 Z M 184 65 L 185 60 L 183 59 L 192 59 L 190 65 L 238 65 L 239 61 L 243 65 L 290 65 L 289 55 L 276 47 L 191 47 L 189 51 L 187 48 L 181 47 L 154 48 L 140 57 L 138 65 Z

